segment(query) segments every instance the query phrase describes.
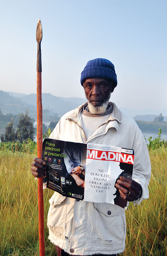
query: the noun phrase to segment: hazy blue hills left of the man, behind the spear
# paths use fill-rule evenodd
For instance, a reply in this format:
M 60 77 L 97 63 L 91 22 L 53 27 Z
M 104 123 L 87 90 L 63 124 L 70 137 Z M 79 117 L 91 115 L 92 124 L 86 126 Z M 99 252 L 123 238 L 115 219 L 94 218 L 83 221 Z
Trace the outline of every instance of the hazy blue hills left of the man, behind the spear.
M 86 99 L 83 98 L 63 98 L 43 93 L 43 121 L 56 121 L 55 117 L 61 117 L 84 102 Z M 26 95 L 0 91 L 0 110 L 4 115 L 25 113 L 26 109 L 28 109 L 30 117 L 36 120 L 36 94 Z

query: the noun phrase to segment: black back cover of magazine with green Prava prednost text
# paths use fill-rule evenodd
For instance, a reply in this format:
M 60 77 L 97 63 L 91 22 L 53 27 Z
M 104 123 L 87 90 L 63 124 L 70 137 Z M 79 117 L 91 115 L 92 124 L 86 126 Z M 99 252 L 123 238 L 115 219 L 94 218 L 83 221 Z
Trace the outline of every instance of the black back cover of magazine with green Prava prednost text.
M 42 159 L 46 162 L 47 188 L 63 196 L 83 200 L 86 146 L 83 143 L 44 139 Z M 76 171 L 77 167 L 81 173 Z

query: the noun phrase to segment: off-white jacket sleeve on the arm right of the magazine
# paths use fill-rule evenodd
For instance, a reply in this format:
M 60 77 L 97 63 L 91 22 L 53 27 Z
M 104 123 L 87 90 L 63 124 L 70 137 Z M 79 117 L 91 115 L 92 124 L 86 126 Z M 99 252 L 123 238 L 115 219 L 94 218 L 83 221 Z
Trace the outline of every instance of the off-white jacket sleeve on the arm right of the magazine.
M 132 179 L 142 186 L 141 198 L 134 201 L 134 204 L 140 204 L 143 199 L 149 198 L 149 180 L 151 177 L 151 163 L 149 152 L 144 137 L 142 136 L 134 146 L 134 169 Z

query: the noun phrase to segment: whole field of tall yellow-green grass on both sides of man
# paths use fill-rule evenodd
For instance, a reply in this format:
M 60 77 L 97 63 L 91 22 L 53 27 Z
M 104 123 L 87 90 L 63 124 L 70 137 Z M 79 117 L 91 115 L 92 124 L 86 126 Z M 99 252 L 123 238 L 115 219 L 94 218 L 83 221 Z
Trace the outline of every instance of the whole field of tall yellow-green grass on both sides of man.
M 167 149 L 150 151 L 150 197 L 139 206 L 130 203 L 127 215 L 126 251 L 123 256 L 167 256 Z M 37 256 L 37 182 L 30 172 L 33 155 L 0 153 L 0 255 Z M 54 256 L 46 226 L 48 199 L 44 191 L 46 255 Z

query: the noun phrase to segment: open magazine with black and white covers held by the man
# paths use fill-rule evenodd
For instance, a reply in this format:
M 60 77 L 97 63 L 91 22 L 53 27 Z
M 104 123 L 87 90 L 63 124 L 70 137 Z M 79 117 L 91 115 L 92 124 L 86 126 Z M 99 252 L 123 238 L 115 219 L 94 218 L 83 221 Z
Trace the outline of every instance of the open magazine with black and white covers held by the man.
M 115 184 L 120 176 L 132 178 L 133 149 L 46 138 L 42 159 L 47 188 L 74 199 L 127 206 Z

